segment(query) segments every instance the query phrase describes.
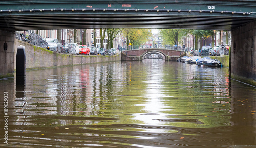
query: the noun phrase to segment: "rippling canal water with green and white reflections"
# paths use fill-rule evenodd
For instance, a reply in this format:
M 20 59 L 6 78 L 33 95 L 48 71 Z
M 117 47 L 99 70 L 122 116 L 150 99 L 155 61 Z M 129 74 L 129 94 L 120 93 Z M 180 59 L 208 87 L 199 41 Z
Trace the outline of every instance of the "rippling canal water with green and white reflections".
M 256 88 L 228 68 L 150 59 L 16 79 L 0 80 L 0 147 L 256 146 Z

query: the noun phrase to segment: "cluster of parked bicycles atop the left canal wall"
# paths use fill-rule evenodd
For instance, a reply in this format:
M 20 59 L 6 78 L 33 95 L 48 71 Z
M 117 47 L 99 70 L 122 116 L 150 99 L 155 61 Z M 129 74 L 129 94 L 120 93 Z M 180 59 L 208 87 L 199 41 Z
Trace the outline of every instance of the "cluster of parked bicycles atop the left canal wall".
M 20 40 L 28 42 L 32 45 L 39 46 L 41 48 L 48 48 L 48 43 L 46 42 L 46 38 L 41 37 L 36 33 L 30 33 L 29 35 L 20 34 Z

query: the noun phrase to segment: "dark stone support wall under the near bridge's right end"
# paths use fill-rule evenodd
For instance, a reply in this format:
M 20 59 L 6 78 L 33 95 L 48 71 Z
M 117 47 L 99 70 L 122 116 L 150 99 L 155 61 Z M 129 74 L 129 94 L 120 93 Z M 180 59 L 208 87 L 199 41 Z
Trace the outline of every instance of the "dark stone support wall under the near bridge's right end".
M 256 21 L 231 33 L 231 78 L 256 86 Z

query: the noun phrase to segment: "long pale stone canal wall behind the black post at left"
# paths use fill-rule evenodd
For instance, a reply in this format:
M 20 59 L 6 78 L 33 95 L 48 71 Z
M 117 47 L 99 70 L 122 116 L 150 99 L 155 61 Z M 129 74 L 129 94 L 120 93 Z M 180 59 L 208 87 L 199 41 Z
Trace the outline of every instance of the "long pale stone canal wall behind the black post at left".
M 53 51 L 31 45 L 29 43 L 15 39 L 14 55 L 16 57 L 17 47 L 25 46 L 26 52 L 26 69 L 38 69 L 56 66 L 69 66 L 88 63 L 101 63 L 111 61 L 121 61 L 121 54 L 114 56 L 99 56 L 99 55 L 71 55 L 57 53 Z M 14 58 L 14 69 L 16 69 L 16 58 Z

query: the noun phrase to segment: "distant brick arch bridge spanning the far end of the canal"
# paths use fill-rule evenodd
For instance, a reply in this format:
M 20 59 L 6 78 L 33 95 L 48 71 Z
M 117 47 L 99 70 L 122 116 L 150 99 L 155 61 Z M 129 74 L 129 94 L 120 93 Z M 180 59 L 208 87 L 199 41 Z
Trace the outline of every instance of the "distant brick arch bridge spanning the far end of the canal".
M 161 48 L 142 48 L 138 50 L 126 50 L 122 51 L 122 60 L 123 61 L 141 61 L 144 59 L 144 56 L 148 53 L 159 53 L 164 56 L 166 61 L 175 61 L 177 58 L 185 54 L 184 51 L 178 50 L 168 50 Z

